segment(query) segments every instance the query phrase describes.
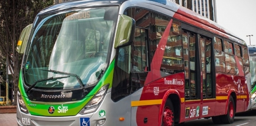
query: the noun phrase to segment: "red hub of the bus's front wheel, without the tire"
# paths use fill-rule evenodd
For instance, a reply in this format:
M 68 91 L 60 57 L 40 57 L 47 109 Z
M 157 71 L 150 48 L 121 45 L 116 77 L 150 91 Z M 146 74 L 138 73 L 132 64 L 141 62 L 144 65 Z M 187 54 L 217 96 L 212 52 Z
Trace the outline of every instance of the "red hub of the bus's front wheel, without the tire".
M 173 124 L 173 112 L 169 107 L 165 107 L 163 113 L 163 126 L 172 126 Z

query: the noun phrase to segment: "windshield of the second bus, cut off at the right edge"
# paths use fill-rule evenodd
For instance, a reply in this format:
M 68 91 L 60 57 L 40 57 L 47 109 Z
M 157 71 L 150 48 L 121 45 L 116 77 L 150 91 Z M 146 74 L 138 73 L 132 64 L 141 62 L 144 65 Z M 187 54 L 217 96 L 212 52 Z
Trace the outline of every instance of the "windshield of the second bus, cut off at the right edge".
M 251 87 L 256 84 L 256 55 L 250 55 Z

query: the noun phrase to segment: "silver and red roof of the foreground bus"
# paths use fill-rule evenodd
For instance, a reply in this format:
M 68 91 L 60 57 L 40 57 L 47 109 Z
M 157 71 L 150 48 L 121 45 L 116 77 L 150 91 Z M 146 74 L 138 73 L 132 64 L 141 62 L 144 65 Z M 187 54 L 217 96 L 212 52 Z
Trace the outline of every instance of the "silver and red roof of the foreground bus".
M 190 23 L 190 21 L 186 21 L 187 23 L 190 23 L 202 29 L 209 27 L 210 29 L 207 30 L 213 33 L 232 39 L 240 44 L 246 45 L 246 42 L 244 42 L 243 39 L 236 36 L 235 34 L 228 31 L 219 24 L 215 23 L 214 21 L 211 21 L 210 19 L 202 15 L 199 15 L 198 13 L 191 11 L 181 5 L 171 2 L 170 0 L 70 0 L 67 2 L 49 6 L 48 8 L 45 8 L 42 11 L 40 11 L 38 15 L 53 11 L 68 10 L 70 8 L 91 7 L 95 5 L 121 5 L 126 1 L 129 1 L 130 3 L 135 3 L 134 6 L 136 6 L 136 3 L 148 3 L 151 5 L 162 6 L 164 8 L 167 8 L 168 10 L 178 13 L 180 16 L 193 20 L 193 23 Z

